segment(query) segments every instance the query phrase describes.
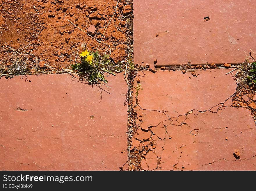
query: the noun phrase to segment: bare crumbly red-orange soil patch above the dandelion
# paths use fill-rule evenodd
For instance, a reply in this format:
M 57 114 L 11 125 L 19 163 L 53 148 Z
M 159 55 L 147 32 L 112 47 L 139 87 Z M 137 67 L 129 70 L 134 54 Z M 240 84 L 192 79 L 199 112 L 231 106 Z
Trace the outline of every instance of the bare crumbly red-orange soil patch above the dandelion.
M 96 50 L 99 40 L 115 12 L 117 0 L 0 0 L 0 46 L 5 49 L 19 49 L 33 53 L 40 67 L 47 65 L 70 67 L 81 43 L 89 50 Z M 125 6 L 126 5 L 126 6 Z M 98 51 L 111 53 L 115 62 L 126 56 L 128 14 L 132 12 L 127 1 L 119 1 L 116 14 Z M 68 20 L 81 28 L 79 30 Z M 88 28 L 93 29 L 92 31 Z M 95 27 L 95 28 L 94 28 Z M 94 31 L 95 29 L 95 31 Z M 98 41 L 97 41 L 97 40 Z M 8 57 L 0 48 L 0 64 Z M 74 57 L 72 57 L 74 56 Z M 71 60 L 72 61 L 72 60 Z

